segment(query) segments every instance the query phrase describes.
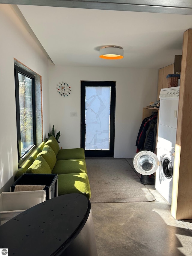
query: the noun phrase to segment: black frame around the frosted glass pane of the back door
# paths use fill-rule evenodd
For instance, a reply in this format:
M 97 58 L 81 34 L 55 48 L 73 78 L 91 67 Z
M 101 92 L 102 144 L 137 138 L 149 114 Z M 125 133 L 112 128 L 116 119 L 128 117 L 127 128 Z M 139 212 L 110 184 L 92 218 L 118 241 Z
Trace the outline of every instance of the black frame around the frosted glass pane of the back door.
M 114 157 L 115 144 L 115 106 L 116 106 L 116 82 L 113 81 L 81 81 L 81 147 L 85 149 L 85 86 L 111 87 L 110 102 L 110 149 L 109 150 L 85 150 L 87 157 Z

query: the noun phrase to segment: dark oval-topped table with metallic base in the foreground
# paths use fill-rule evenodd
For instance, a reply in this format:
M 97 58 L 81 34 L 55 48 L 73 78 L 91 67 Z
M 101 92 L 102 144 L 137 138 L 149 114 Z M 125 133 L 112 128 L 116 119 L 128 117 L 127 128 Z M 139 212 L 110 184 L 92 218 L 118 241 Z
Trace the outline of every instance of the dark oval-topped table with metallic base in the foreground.
M 91 203 L 82 194 L 46 200 L 0 226 L 9 256 L 98 256 Z

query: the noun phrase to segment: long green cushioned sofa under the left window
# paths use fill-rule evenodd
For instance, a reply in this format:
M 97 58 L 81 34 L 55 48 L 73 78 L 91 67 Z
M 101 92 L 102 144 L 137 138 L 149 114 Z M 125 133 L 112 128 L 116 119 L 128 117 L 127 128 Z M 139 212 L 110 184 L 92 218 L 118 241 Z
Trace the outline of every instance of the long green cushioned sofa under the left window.
M 15 180 L 23 173 L 58 174 L 58 196 L 80 193 L 91 197 L 84 149 L 59 149 L 54 136 L 38 146 L 16 173 Z

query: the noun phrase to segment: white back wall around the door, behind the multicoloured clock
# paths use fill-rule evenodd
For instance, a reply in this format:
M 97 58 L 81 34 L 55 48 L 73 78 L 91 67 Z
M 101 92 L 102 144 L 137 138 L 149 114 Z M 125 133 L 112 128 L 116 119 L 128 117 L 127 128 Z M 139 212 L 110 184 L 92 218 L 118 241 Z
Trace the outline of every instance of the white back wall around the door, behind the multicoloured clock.
M 50 131 L 53 124 L 61 131 L 62 148 L 80 147 L 81 80 L 116 81 L 115 158 L 133 158 L 142 109 L 157 99 L 158 70 L 49 65 Z M 71 95 L 58 94 L 59 82 L 71 86 Z

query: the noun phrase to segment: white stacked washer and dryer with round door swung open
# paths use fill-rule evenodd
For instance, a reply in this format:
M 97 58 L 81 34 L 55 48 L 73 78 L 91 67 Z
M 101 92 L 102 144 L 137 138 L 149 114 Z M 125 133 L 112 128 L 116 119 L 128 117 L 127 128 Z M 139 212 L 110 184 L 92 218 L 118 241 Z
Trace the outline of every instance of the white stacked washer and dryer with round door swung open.
M 155 188 L 171 204 L 173 172 L 179 105 L 179 86 L 161 89 L 158 123 L 157 155 L 141 151 L 134 157 L 138 173 L 150 175 L 156 172 Z

